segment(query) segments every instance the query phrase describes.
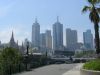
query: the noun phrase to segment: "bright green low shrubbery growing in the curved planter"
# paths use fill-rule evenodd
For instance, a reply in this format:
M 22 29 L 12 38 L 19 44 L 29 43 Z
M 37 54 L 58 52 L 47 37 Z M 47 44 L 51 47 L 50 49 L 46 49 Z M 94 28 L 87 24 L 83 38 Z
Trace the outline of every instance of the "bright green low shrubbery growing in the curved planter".
M 100 71 L 100 59 L 95 59 L 85 63 L 83 69 Z

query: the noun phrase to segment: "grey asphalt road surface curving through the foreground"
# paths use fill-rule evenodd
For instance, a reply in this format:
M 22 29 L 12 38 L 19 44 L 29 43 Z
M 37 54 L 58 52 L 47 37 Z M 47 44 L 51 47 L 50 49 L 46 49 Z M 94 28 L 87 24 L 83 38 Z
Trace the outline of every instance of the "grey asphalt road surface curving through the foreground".
M 32 71 L 23 72 L 17 75 L 62 75 L 72 69 L 77 64 L 55 64 L 33 69 Z

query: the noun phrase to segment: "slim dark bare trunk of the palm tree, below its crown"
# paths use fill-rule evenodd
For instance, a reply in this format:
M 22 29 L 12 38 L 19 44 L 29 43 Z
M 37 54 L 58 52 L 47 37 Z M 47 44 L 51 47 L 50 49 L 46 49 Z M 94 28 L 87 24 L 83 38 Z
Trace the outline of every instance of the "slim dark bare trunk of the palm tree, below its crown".
M 100 54 L 100 50 L 99 50 L 99 25 L 98 25 L 98 23 L 95 23 L 94 30 L 95 30 L 95 48 L 96 48 L 96 53 Z

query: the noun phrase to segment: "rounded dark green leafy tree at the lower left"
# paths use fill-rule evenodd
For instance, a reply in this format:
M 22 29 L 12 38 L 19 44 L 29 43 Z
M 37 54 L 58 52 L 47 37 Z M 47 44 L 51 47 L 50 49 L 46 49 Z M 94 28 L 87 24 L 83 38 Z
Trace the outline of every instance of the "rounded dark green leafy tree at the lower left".
M 22 56 L 18 50 L 14 48 L 5 48 L 0 53 L 0 68 L 2 71 L 1 75 L 12 74 L 18 68 L 18 65 L 22 61 Z

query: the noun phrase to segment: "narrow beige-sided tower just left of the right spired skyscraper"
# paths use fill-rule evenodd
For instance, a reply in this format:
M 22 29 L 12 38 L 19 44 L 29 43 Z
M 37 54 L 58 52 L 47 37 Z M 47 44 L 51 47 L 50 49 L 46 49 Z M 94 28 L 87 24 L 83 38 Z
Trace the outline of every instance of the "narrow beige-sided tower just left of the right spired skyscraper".
M 46 30 L 46 48 L 52 49 L 52 36 L 51 30 Z

